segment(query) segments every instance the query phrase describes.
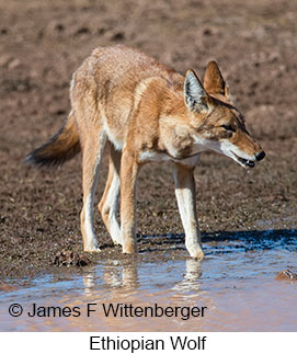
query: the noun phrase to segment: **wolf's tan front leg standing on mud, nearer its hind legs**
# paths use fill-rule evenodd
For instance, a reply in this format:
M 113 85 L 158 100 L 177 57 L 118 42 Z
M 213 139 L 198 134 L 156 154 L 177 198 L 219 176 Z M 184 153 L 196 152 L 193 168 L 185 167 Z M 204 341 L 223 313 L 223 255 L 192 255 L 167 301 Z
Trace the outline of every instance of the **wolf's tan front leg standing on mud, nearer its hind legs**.
M 139 165 L 124 148 L 121 161 L 121 236 L 124 253 L 136 253 L 136 183 Z

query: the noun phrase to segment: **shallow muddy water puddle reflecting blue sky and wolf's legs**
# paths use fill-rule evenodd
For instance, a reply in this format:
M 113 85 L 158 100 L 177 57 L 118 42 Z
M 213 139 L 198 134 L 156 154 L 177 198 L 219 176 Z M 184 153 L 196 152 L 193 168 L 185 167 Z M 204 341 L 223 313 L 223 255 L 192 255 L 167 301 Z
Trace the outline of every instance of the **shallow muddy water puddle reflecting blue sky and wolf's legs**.
M 0 330 L 297 331 L 297 282 L 275 281 L 282 270 L 297 271 L 296 230 L 226 232 L 216 241 L 204 239 L 202 263 L 184 250 L 175 259 L 173 251 L 167 258 L 145 252 L 137 261 L 99 261 L 80 273 L 38 277 L 28 287 L 2 293 Z M 23 307 L 20 317 L 9 315 L 11 304 Z M 67 316 L 30 317 L 33 304 L 67 308 Z M 89 317 L 88 304 L 93 304 Z M 111 304 L 114 309 L 127 305 L 127 311 L 130 305 L 139 307 L 139 316 L 106 317 L 104 307 Z M 147 309 L 148 317 L 140 316 L 145 307 L 152 308 Z M 165 308 L 176 316 L 156 316 Z M 155 317 L 150 311 L 157 311 Z

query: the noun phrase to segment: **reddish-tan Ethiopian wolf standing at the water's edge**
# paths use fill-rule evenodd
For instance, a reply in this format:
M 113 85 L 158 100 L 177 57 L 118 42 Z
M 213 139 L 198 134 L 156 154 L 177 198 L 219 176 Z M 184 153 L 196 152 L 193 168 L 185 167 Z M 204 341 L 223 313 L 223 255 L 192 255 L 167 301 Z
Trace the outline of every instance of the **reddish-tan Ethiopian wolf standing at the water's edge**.
M 108 145 L 108 176 L 99 210 L 114 243 L 122 244 L 125 253 L 137 251 L 138 172 L 151 161 L 172 161 L 185 245 L 193 258 L 203 259 L 193 176 L 199 153 L 215 150 L 244 168 L 253 168 L 265 156 L 247 132 L 217 64 L 207 65 L 202 84 L 193 70 L 183 77 L 123 45 L 99 47 L 73 73 L 70 100 L 64 127 L 26 161 L 56 165 L 82 151 L 84 251 L 100 251 L 93 204 L 100 162 Z M 121 226 L 116 217 L 119 193 Z

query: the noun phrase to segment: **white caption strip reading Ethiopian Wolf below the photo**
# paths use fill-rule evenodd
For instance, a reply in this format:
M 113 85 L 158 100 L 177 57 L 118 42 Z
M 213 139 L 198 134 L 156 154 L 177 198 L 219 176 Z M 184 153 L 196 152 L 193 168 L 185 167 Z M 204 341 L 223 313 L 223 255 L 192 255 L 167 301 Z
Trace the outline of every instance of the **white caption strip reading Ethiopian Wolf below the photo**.
M 170 336 L 187 336 L 189 340 L 197 340 L 206 336 L 205 350 L 173 350 Z M 107 351 L 90 350 L 91 336 L 110 336 L 123 340 L 163 340 L 164 351 L 137 350 L 134 353 L 296 353 L 296 333 L 278 332 L 2 332 L 0 333 L 0 347 L 2 353 L 132 353 L 129 350 Z

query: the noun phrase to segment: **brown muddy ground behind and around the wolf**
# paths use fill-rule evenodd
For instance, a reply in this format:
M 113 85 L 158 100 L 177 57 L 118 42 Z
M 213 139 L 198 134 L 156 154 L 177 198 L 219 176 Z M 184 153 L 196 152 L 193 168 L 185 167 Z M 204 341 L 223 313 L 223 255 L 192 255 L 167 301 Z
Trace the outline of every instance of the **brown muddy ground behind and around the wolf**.
M 71 75 L 99 45 L 134 46 L 199 77 L 216 59 L 267 157 L 247 173 L 228 158 L 202 156 L 195 179 L 203 236 L 296 229 L 296 18 L 292 0 L 1 0 L 1 277 L 56 272 L 58 251 L 82 250 L 80 156 L 57 170 L 35 170 L 23 159 L 59 129 Z M 169 170 L 150 164 L 140 173 L 139 249 L 152 256 L 185 256 Z M 106 163 L 98 201 L 105 175 Z M 95 228 L 103 251 L 90 260 L 122 256 L 98 213 Z M 141 238 L 151 235 L 158 237 Z

